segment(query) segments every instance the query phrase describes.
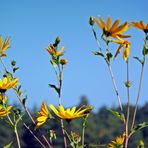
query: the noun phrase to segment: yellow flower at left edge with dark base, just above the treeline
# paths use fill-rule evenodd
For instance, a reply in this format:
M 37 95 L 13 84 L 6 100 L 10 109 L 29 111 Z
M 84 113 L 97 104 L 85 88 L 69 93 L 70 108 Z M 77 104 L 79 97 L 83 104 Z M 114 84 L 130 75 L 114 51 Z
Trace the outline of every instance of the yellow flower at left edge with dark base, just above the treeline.
M 0 79 L 0 92 L 5 92 L 6 90 L 15 87 L 18 84 L 18 79 L 15 78 L 12 81 L 4 77 L 4 79 Z

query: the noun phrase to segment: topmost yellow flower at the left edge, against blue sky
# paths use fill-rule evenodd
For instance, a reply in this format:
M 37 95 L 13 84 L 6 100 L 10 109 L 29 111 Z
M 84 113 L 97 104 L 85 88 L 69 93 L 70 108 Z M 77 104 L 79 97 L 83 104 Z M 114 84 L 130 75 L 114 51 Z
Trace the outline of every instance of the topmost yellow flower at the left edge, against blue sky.
M 9 39 L 6 38 L 4 43 L 2 37 L 0 36 L 0 57 L 6 56 L 5 51 L 10 47 Z

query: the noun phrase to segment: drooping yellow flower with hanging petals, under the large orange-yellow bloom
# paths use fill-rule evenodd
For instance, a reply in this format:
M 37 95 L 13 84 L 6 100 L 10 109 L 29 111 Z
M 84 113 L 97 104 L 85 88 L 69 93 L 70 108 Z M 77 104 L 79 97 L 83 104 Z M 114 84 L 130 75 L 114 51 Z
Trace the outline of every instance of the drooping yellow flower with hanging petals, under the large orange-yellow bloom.
M 113 42 L 119 44 L 120 46 L 117 49 L 117 52 L 114 56 L 114 58 L 117 57 L 117 55 L 120 53 L 121 49 L 123 48 L 123 59 L 124 61 L 127 61 L 129 55 L 130 55 L 130 42 L 127 40 L 122 40 L 121 38 L 117 37 L 118 40 L 113 40 Z

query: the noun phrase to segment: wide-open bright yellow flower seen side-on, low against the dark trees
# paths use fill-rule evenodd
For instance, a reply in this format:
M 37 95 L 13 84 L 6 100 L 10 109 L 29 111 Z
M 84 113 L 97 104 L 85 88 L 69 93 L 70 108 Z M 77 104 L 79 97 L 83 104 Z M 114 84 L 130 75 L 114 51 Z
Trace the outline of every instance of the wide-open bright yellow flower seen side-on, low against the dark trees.
M 74 106 L 71 109 L 68 108 L 65 110 L 62 105 L 59 105 L 58 109 L 56 109 L 52 104 L 50 104 L 50 109 L 61 119 L 71 120 L 88 115 L 92 110 L 92 106 L 83 105 L 79 109 L 76 109 Z

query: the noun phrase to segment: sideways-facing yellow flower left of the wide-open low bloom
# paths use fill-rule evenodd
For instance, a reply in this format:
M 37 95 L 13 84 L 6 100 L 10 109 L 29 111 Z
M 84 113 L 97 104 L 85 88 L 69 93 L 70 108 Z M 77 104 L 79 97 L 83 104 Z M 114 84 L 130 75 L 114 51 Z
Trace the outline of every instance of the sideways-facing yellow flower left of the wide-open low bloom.
M 38 112 L 38 115 L 36 116 L 36 128 L 43 125 L 49 118 L 49 115 L 49 110 L 45 102 L 43 102 L 41 105 L 41 110 Z

